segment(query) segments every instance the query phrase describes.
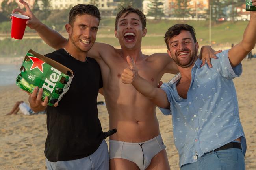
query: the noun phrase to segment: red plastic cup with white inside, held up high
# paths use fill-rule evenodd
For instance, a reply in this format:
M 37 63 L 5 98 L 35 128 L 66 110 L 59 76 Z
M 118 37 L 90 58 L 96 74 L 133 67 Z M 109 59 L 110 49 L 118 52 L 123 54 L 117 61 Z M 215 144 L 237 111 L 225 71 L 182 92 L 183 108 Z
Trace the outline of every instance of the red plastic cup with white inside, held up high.
M 11 14 L 11 38 L 21 40 L 23 38 L 26 21 L 29 20 L 29 17 L 21 14 Z

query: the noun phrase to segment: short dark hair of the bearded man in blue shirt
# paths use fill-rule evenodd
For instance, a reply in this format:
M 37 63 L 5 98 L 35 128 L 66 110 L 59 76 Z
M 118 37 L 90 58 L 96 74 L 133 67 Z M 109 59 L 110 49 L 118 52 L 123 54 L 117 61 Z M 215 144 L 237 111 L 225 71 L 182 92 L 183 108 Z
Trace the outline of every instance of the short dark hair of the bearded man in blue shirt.
M 175 25 L 171 26 L 165 33 L 164 38 L 165 38 L 165 43 L 166 43 L 167 49 L 169 49 L 168 41 L 171 38 L 173 38 L 174 36 L 179 35 L 180 31 L 182 31 L 182 30 L 189 31 L 191 33 L 191 36 L 192 36 L 194 42 L 195 43 L 197 42 L 195 29 L 192 26 L 190 26 L 188 24 L 175 24 Z

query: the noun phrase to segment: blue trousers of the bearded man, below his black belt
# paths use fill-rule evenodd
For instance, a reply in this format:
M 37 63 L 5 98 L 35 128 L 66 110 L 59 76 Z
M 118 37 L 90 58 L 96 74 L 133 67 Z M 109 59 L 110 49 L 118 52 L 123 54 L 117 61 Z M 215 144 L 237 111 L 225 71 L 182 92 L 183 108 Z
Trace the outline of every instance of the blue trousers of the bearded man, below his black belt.
M 182 165 L 180 170 L 245 170 L 245 159 L 241 149 L 213 151 L 197 157 L 195 163 Z

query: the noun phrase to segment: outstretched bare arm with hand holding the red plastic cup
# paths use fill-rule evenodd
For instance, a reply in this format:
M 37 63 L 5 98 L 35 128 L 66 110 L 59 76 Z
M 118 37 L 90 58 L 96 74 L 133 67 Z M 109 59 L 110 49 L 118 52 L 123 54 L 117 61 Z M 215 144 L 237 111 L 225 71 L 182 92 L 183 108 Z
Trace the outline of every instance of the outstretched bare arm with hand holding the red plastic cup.
M 57 31 L 47 27 L 45 24 L 40 22 L 40 20 L 37 19 L 35 15 L 33 15 L 28 3 L 26 3 L 24 0 L 19 0 L 19 2 L 25 6 L 26 11 L 17 8 L 14 9 L 12 13 L 19 12 L 22 15 L 29 16 L 30 20 L 26 22 L 27 26 L 31 29 L 35 29 L 35 31 L 37 31 L 38 35 L 46 42 L 46 44 L 54 49 L 60 49 L 67 43 L 68 40 L 66 38 L 62 37 L 62 35 L 60 35 Z

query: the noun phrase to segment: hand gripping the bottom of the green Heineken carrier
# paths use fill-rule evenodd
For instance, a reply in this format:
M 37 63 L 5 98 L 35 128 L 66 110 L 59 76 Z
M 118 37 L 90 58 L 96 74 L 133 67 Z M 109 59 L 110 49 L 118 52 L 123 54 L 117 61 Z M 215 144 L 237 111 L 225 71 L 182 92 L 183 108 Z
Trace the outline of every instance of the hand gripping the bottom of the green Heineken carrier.
M 38 94 L 37 94 L 38 91 Z M 47 103 L 48 103 L 48 96 L 45 97 L 45 101 L 42 101 L 42 95 L 43 95 L 43 88 L 40 88 L 38 90 L 38 87 L 35 87 L 33 90 L 33 93 L 29 94 L 28 97 L 28 102 L 30 103 L 30 108 L 34 111 L 34 112 L 39 112 L 39 111 L 43 111 L 46 109 L 47 107 Z

